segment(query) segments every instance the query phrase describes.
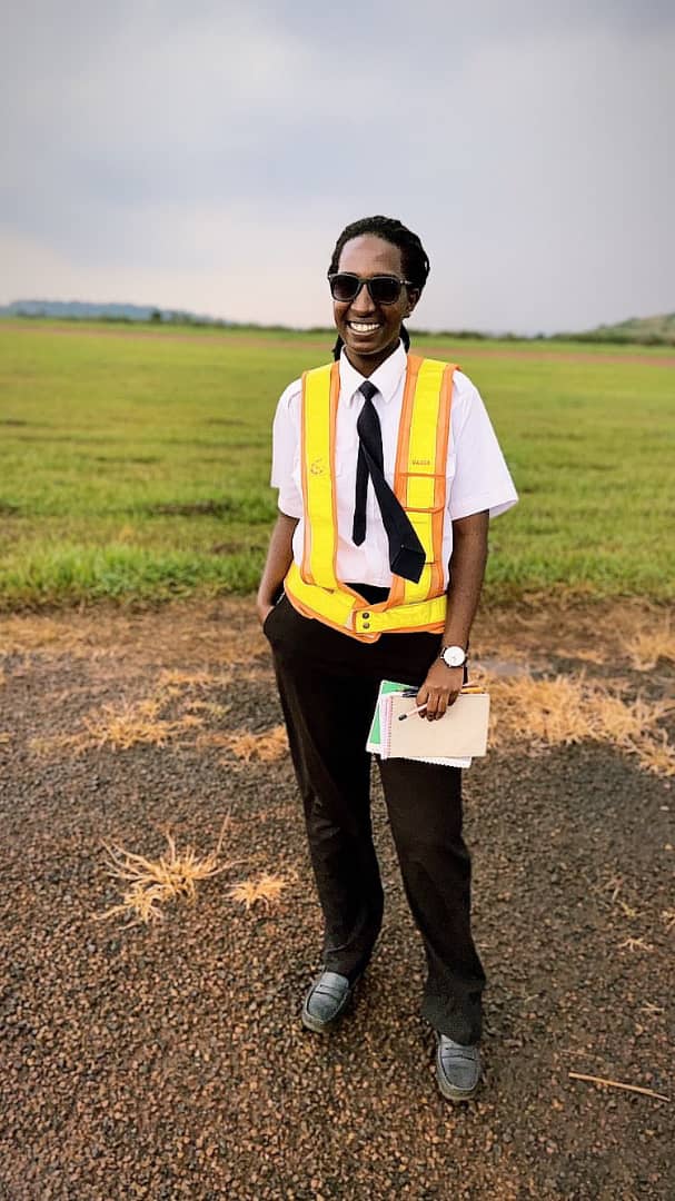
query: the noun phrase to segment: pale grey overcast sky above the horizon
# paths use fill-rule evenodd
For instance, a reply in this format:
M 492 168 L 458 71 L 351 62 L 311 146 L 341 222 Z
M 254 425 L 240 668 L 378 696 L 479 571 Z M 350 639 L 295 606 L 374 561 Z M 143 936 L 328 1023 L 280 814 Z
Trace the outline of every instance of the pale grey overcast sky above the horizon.
M 398 216 L 417 324 L 675 310 L 670 0 L 14 0 L 0 303 L 329 324 L 341 228 Z

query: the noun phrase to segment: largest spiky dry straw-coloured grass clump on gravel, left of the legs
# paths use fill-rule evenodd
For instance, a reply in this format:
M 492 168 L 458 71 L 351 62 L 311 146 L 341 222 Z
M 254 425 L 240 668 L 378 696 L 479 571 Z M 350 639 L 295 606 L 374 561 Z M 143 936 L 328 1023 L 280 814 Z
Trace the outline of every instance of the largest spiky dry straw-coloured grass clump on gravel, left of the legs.
M 120 904 L 97 914 L 96 920 L 125 916 L 130 926 L 148 925 L 163 920 L 162 904 L 180 897 L 195 901 L 201 880 L 234 866 L 234 861 L 219 862 L 227 825 L 228 818 L 222 824 L 216 847 L 203 858 L 190 846 L 179 852 L 171 833 L 166 833 L 167 850 L 157 860 L 136 855 L 117 843 L 103 843 L 108 856 L 107 874 L 125 880 L 127 888 Z

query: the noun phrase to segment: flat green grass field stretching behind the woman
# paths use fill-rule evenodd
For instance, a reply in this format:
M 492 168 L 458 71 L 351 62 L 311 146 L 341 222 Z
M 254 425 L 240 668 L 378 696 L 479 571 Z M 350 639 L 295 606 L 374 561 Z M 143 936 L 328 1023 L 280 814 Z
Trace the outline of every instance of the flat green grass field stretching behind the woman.
M 255 588 L 276 400 L 328 360 L 329 336 L 62 330 L 0 322 L 0 608 Z M 492 527 L 488 599 L 673 599 L 663 349 L 425 346 L 480 388 L 521 496 Z

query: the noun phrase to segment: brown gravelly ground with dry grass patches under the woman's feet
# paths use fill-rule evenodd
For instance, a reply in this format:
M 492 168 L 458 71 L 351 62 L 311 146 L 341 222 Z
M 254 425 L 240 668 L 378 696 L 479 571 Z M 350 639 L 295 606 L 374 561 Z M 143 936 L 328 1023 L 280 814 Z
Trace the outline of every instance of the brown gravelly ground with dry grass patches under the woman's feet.
M 651 704 L 673 697 L 669 629 L 533 600 L 485 611 L 473 651 L 495 687 Z M 671 1201 L 673 777 L 619 725 L 616 745 L 525 730 L 466 773 L 489 991 L 484 1085 L 453 1106 L 375 776 L 381 942 L 340 1028 L 300 1024 L 321 924 L 280 721 L 250 602 L 0 620 L 0 1199 Z M 124 891 L 103 839 L 156 860 L 169 829 L 207 855 L 226 814 L 238 862 L 193 903 L 97 920 Z

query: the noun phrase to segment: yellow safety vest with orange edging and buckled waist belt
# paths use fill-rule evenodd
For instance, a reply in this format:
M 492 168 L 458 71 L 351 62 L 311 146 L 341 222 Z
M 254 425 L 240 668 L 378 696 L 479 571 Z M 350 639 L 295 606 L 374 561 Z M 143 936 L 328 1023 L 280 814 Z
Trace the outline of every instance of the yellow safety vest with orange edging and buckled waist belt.
M 359 643 L 375 643 L 383 633 L 443 629 L 446 464 L 455 365 L 407 355 L 394 492 L 426 557 L 417 584 L 394 575 L 388 598 L 372 605 L 339 580 L 335 570 L 340 368 L 329 363 L 303 375 L 300 461 L 305 537 L 301 567 L 293 562 L 283 587 L 291 604 L 305 617 L 317 617 Z

